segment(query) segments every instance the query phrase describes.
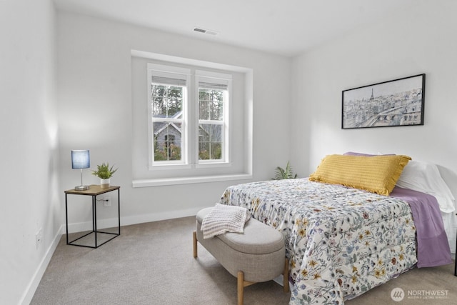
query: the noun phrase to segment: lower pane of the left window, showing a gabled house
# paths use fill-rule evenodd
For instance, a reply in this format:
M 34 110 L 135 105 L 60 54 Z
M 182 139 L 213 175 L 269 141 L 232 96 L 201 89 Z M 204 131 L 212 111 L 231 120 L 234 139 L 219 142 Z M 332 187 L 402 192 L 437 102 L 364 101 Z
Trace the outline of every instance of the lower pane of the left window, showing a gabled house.
M 154 161 L 181 160 L 181 124 L 154 122 Z

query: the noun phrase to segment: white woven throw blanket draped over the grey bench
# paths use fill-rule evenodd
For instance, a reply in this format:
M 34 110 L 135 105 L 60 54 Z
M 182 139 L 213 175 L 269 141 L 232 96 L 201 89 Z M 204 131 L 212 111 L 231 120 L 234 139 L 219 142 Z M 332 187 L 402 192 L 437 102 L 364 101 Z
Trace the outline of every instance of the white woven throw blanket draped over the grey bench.
M 226 232 L 243 233 L 244 224 L 250 218 L 251 215 L 246 208 L 216 204 L 213 210 L 201 221 L 203 238 L 209 239 Z

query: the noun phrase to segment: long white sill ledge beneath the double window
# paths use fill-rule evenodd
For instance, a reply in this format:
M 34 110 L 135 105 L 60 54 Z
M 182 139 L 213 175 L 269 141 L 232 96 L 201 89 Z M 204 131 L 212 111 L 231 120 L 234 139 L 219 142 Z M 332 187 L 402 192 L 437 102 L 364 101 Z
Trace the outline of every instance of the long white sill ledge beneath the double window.
M 204 183 L 204 182 L 252 179 L 252 177 L 253 177 L 252 174 L 233 174 L 233 175 L 221 175 L 221 176 L 201 176 L 201 177 L 183 177 L 183 178 L 166 178 L 166 179 L 138 179 L 138 180 L 132 181 L 132 186 L 134 188 L 137 188 L 137 187 L 148 187 L 148 186 L 195 184 L 195 183 Z

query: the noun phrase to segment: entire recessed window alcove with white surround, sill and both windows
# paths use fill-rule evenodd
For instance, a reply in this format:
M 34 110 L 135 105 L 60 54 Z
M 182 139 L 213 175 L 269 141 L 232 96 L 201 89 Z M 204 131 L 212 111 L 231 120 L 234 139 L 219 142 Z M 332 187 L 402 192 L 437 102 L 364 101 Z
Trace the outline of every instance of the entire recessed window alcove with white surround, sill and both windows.
M 252 179 L 252 69 L 132 50 L 131 101 L 134 188 Z

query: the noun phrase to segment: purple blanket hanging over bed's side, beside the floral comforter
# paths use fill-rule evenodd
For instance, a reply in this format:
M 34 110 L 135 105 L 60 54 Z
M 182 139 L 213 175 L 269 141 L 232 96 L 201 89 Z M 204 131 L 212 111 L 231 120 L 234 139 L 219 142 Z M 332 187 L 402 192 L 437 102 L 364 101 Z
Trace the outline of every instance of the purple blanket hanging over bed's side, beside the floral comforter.
M 393 189 L 391 196 L 411 206 L 417 232 L 418 268 L 451 264 L 451 249 L 436 198 L 398 186 Z

